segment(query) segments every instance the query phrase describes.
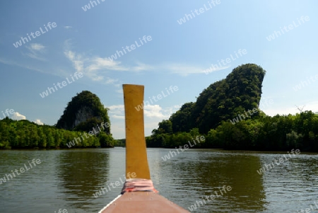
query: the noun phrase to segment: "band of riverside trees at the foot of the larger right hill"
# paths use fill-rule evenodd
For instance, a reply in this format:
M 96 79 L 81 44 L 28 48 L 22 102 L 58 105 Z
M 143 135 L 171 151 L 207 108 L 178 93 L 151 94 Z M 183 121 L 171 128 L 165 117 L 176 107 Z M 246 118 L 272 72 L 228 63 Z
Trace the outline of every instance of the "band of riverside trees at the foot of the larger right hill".
M 198 128 L 190 132 L 173 133 L 172 122 L 163 120 L 159 128 L 147 137 L 149 147 L 175 148 L 187 144 L 196 135 L 204 135 L 205 142 L 193 148 L 220 148 L 237 150 L 318 151 L 318 114 L 305 111 L 296 115 L 259 115 L 254 119 L 242 120 L 232 124 L 221 122 L 207 134 L 200 134 Z

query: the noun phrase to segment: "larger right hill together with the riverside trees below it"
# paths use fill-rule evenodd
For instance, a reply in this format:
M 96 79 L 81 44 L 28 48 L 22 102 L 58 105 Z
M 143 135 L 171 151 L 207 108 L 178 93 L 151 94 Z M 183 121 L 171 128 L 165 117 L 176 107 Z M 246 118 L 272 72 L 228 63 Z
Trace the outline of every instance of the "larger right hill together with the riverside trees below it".
M 171 115 L 170 122 L 160 122 L 158 129 L 146 137 L 147 146 L 175 148 L 195 135 L 204 134 L 206 141 L 194 148 L 318 151 L 317 114 L 306 111 L 269 117 L 259 110 L 265 74 L 256 64 L 233 69 L 226 79 L 204 89 L 195 103 L 182 105 Z M 254 108 L 257 113 L 229 122 Z

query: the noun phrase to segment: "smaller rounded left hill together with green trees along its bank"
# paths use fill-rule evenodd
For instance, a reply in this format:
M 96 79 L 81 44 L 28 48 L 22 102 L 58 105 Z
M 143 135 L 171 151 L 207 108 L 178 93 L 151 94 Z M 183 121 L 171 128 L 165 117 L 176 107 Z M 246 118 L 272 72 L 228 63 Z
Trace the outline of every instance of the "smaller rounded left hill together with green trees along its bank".
M 73 97 L 54 126 L 8 117 L 0 120 L 0 149 L 96 148 L 114 144 L 107 109 L 90 91 Z

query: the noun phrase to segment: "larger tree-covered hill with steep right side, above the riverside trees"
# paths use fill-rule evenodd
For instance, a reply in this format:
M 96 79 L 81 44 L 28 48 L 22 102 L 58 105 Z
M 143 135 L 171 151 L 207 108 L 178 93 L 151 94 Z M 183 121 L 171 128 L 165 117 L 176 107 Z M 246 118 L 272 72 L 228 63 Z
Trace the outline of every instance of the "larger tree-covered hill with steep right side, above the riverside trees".
M 189 132 L 190 129 L 199 128 L 199 132 L 206 134 L 218 127 L 221 121 L 253 108 L 258 109 L 265 74 L 266 71 L 257 64 L 236 67 L 225 79 L 204 89 L 195 103 L 184 103 L 171 115 L 172 132 Z M 252 116 L 256 115 L 259 111 Z

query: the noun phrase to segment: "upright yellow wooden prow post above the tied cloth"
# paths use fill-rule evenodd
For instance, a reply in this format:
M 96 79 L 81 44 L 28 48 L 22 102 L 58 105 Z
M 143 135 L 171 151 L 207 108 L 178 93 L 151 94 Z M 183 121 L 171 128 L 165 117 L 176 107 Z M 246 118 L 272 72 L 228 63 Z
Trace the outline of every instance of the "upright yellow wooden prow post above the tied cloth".
M 124 108 L 126 124 L 126 178 L 150 180 L 146 140 L 143 125 L 144 86 L 124 84 Z M 134 173 L 134 176 L 132 174 Z

